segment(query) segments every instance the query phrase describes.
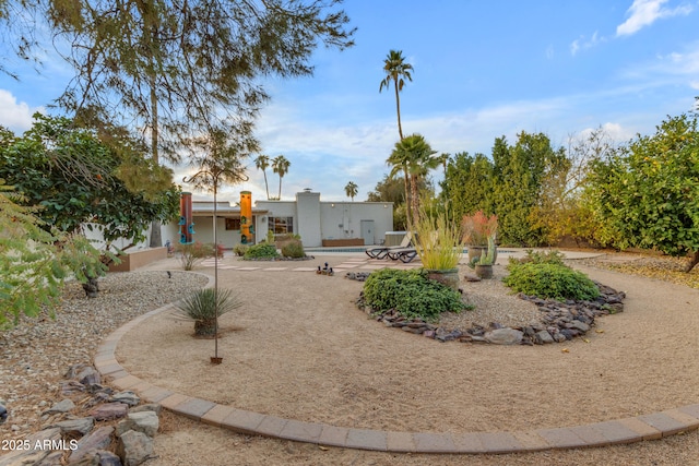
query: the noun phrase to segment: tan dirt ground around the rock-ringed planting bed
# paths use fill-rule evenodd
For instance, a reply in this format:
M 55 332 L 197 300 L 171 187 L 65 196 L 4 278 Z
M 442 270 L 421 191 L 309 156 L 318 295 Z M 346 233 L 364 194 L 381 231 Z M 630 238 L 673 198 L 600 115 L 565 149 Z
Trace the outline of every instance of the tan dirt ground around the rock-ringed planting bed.
M 355 307 L 362 283 L 289 268 L 218 271 L 220 286 L 245 302 L 221 319 L 223 365 L 209 363 L 213 340 L 193 338 L 193 325 L 169 312 L 127 334 L 118 360 L 153 384 L 220 404 L 393 431 L 555 428 L 699 399 L 696 289 L 581 266 L 627 291 L 625 312 L 597 320 L 589 343 L 506 347 L 442 344 L 386 328 Z M 520 455 L 401 455 L 240 435 L 166 415 L 156 452 L 150 464 L 674 465 L 699 464 L 699 435 Z

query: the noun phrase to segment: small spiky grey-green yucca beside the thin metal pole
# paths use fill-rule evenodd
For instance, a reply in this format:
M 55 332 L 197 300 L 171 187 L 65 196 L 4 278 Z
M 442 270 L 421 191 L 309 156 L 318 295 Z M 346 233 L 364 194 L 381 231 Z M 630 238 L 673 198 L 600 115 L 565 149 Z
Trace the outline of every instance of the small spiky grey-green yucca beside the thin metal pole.
M 218 304 L 216 306 L 216 300 Z M 199 289 L 175 304 L 178 314 L 194 321 L 194 335 L 214 336 L 216 333 L 216 309 L 218 316 L 238 309 L 242 302 L 229 289 Z

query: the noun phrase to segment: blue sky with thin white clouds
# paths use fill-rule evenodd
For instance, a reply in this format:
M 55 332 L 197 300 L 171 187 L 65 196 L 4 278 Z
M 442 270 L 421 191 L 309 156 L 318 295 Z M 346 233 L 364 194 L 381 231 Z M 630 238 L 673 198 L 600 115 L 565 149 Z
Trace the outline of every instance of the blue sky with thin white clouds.
M 283 200 L 310 188 L 321 201 L 348 201 L 353 181 L 364 201 L 390 171 L 395 96 L 379 93 L 390 50 L 413 65 L 400 95 L 403 133 L 422 134 L 438 154 L 489 156 L 496 138 L 514 143 L 521 131 L 565 147 L 602 127 L 623 143 L 699 96 L 699 0 L 346 0 L 343 9 L 354 47 L 321 46 L 313 76 L 264 82 L 272 99 L 256 132 L 262 154 L 291 162 Z M 0 126 L 21 134 L 72 71 L 50 52 L 40 75 L 19 69 L 19 82 L 0 74 Z M 223 187 L 220 200 L 242 190 L 266 198 L 253 158 L 249 181 Z M 176 180 L 186 174 L 177 167 Z M 440 170 L 431 175 L 438 183 Z M 268 179 L 276 195 L 279 177 L 268 169 Z

